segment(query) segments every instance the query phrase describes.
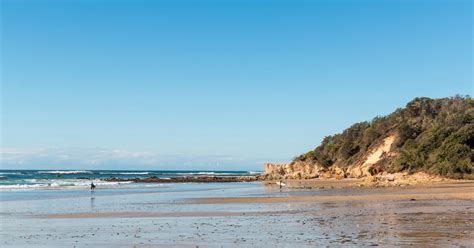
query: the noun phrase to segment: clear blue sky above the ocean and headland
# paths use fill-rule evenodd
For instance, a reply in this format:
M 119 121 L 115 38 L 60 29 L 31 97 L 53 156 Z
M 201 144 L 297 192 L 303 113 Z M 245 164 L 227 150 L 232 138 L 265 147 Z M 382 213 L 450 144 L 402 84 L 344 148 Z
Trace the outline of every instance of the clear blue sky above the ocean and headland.
M 469 0 L 1 4 L 3 168 L 261 169 L 473 95 Z

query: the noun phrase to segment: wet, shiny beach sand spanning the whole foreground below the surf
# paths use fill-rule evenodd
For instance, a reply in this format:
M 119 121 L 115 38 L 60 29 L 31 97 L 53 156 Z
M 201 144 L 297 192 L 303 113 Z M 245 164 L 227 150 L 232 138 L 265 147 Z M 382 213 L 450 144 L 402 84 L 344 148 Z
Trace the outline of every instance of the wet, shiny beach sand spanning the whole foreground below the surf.
M 324 189 L 318 181 L 303 182 L 304 187 L 294 183 L 282 192 L 263 183 L 190 184 L 186 187 L 200 190 L 3 202 L 0 245 L 471 247 L 474 243 L 474 182 L 356 188 L 346 187 L 345 181 L 324 181 Z M 12 209 L 20 203 L 29 205 Z

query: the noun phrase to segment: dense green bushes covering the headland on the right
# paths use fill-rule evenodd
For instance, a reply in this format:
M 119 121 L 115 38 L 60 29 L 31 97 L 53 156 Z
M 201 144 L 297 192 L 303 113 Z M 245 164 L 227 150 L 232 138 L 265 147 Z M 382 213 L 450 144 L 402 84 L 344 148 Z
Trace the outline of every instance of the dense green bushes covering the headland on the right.
M 383 154 L 373 170 L 472 178 L 474 100 L 470 96 L 415 98 L 392 114 L 325 137 L 318 147 L 293 162 L 349 167 L 361 163 L 388 136 L 396 137 L 391 154 Z

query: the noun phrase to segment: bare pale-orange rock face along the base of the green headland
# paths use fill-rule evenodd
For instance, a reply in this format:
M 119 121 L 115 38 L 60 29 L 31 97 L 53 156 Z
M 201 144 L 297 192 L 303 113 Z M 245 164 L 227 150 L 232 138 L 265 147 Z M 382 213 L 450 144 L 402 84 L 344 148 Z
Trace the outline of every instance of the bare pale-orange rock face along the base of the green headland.
M 360 162 L 350 166 L 340 166 L 335 163 L 330 167 L 323 167 L 312 161 L 295 161 L 291 163 L 264 165 L 266 180 L 279 179 L 311 179 L 311 178 L 361 178 L 374 176 L 381 170 L 378 163 L 387 157 L 396 156 L 392 151 L 392 145 L 396 136 L 390 135 L 384 138 L 379 145 L 370 149 Z

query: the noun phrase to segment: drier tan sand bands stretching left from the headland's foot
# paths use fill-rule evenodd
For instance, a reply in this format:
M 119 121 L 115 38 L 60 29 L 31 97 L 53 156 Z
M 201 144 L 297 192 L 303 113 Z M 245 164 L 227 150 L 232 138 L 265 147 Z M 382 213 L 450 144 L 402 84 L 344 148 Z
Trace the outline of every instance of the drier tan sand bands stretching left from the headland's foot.
M 362 202 L 439 202 L 439 201 L 467 201 L 474 202 L 474 181 L 467 182 L 440 182 L 436 185 L 416 185 L 384 188 L 354 188 L 344 187 L 312 187 L 306 191 L 309 194 L 298 195 L 305 192 L 302 188 L 295 187 L 298 182 L 289 182 L 290 187 L 282 191 L 282 195 L 271 196 L 241 196 L 241 197 L 199 197 L 187 198 L 177 204 L 198 205 L 221 205 L 221 204 L 359 204 Z M 331 182 L 328 182 L 331 181 Z M 319 181 L 320 183 L 321 181 Z M 323 183 L 333 184 L 340 180 L 324 179 Z M 296 183 L 296 184 L 293 184 Z M 313 185 L 318 182 L 312 182 Z M 264 184 L 269 187 L 277 187 Z M 318 184 L 320 185 L 320 184 Z M 341 194 L 341 190 L 345 193 Z M 347 191 L 349 190 L 349 191 Z M 275 191 L 276 192 L 276 191 Z M 314 193 L 323 193 L 317 194 Z M 288 195 L 289 194 L 289 195 Z M 79 212 L 79 213 L 55 213 L 45 215 L 33 215 L 40 219 L 90 219 L 90 218 L 163 218 L 163 217 L 231 217 L 231 216 L 264 216 L 267 214 L 301 214 L 305 210 L 286 211 L 187 211 L 187 212 L 153 212 L 153 211 L 118 211 L 118 212 Z M 311 212 L 311 211 L 310 211 Z

